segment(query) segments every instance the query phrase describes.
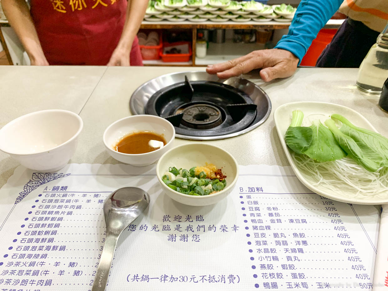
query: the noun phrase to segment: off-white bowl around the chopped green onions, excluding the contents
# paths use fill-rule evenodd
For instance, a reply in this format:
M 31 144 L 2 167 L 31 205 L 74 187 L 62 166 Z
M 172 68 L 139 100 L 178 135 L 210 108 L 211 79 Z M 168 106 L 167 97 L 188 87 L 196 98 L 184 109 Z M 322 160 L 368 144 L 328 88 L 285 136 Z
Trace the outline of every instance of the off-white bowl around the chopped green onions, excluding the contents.
M 189 170 L 194 166 L 204 166 L 205 163 L 222 168 L 222 173 L 227 176 L 227 185 L 220 192 L 206 196 L 182 194 L 168 187 L 162 180 L 163 173 L 170 167 Z M 221 201 L 232 191 L 239 176 L 239 166 L 236 159 L 220 147 L 204 143 L 190 143 L 174 147 L 161 156 L 156 165 L 156 175 L 163 191 L 171 199 L 186 205 L 205 206 Z

